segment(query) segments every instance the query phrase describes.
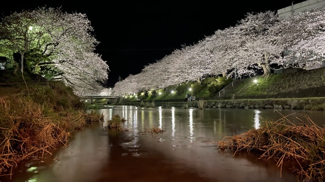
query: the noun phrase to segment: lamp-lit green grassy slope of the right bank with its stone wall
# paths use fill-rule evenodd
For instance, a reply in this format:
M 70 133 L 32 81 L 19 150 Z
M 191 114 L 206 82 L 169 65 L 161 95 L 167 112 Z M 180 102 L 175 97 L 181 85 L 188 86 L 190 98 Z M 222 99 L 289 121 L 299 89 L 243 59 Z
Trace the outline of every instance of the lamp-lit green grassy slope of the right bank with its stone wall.
M 216 84 L 218 83 L 218 84 Z M 230 84 L 229 84 L 230 83 Z M 227 85 L 228 84 L 228 85 Z M 223 85 L 221 87 L 221 85 Z M 206 78 L 155 91 L 121 97 L 118 105 L 198 107 L 187 94 L 203 99 L 205 108 L 325 110 L 325 67 L 236 79 Z M 144 104 L 142 104 L 143 102 Z M 151 103 L 151 104 L 150 104 Z

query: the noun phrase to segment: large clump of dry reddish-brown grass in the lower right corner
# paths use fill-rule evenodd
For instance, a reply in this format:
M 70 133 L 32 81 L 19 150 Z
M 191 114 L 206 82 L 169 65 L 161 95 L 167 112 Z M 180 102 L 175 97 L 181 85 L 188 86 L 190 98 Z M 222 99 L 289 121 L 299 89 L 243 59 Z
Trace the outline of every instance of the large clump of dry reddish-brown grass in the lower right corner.
M 258 129 L 225 137 L 218 143 L 220 149 L 261 152 L 261 158 L 276 159 L 278 167 L 283 161 L 294 160 L 298 179 L 324 181 L 325 128 L 317 126 L 307 115 L 295 124 L 286 117 L 278 121 L 265 121 Z

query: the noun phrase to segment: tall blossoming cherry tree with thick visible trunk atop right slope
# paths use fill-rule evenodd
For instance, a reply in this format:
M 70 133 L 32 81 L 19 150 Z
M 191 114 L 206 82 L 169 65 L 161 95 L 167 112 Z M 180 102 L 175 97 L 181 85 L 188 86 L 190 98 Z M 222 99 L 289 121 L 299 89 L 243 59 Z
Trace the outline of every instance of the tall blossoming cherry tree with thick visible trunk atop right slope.
M 270 64 L 283 64 L 281 56 L 285 44 L 281 44 L 279 36 L 271 31 L 280 19 L 274 12 L 266 11 L 248 13 L 239 21 L 237 35 L 242 42 L 238 50 L 241 59 L 237 65 L 243 71 L 249 70 L 247 67 L 262 67 L 267 76 L 271 73 Z

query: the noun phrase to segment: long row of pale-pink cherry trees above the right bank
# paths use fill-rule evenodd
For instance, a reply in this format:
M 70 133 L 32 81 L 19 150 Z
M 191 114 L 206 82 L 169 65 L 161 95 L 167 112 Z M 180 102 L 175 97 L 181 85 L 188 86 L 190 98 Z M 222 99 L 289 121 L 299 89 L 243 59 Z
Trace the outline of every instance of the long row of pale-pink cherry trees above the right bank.
M 275 68 L 309 68 L 324 59 L 325 7 L 288 18 L 267 11 L 248 13 L 234 27 L 217 30 L 196 44 L 129 75 L 114 86 L 116 95 L 165 88 L 205 74 L 269 75 Z M 274 67 L 276 65 L 276 67 Z

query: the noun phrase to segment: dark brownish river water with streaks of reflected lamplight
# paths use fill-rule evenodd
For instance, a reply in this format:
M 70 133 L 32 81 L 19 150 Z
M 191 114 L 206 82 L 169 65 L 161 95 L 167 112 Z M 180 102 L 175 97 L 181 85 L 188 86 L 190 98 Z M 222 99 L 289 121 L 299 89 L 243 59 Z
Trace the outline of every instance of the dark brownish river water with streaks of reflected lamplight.
M 245 110 L 197 108 L 142 108 L 114 106 L 96 110 L 105 121 L 75 133 L 68 147 L 53 155 L 19 163 L 0 181 L 297 181 L 290 164 L 276 166 L 257 155 L 233 155 L 218 150 L 223 136 L 258 128 L 264 120 L 306 113 L 322 125 L 324 112 L 296 110 Z M 118 114 L 127 121 L 127 132 L 107 129 L 107 120 Z M 151 127 L 162 134 L 145 131 Z

